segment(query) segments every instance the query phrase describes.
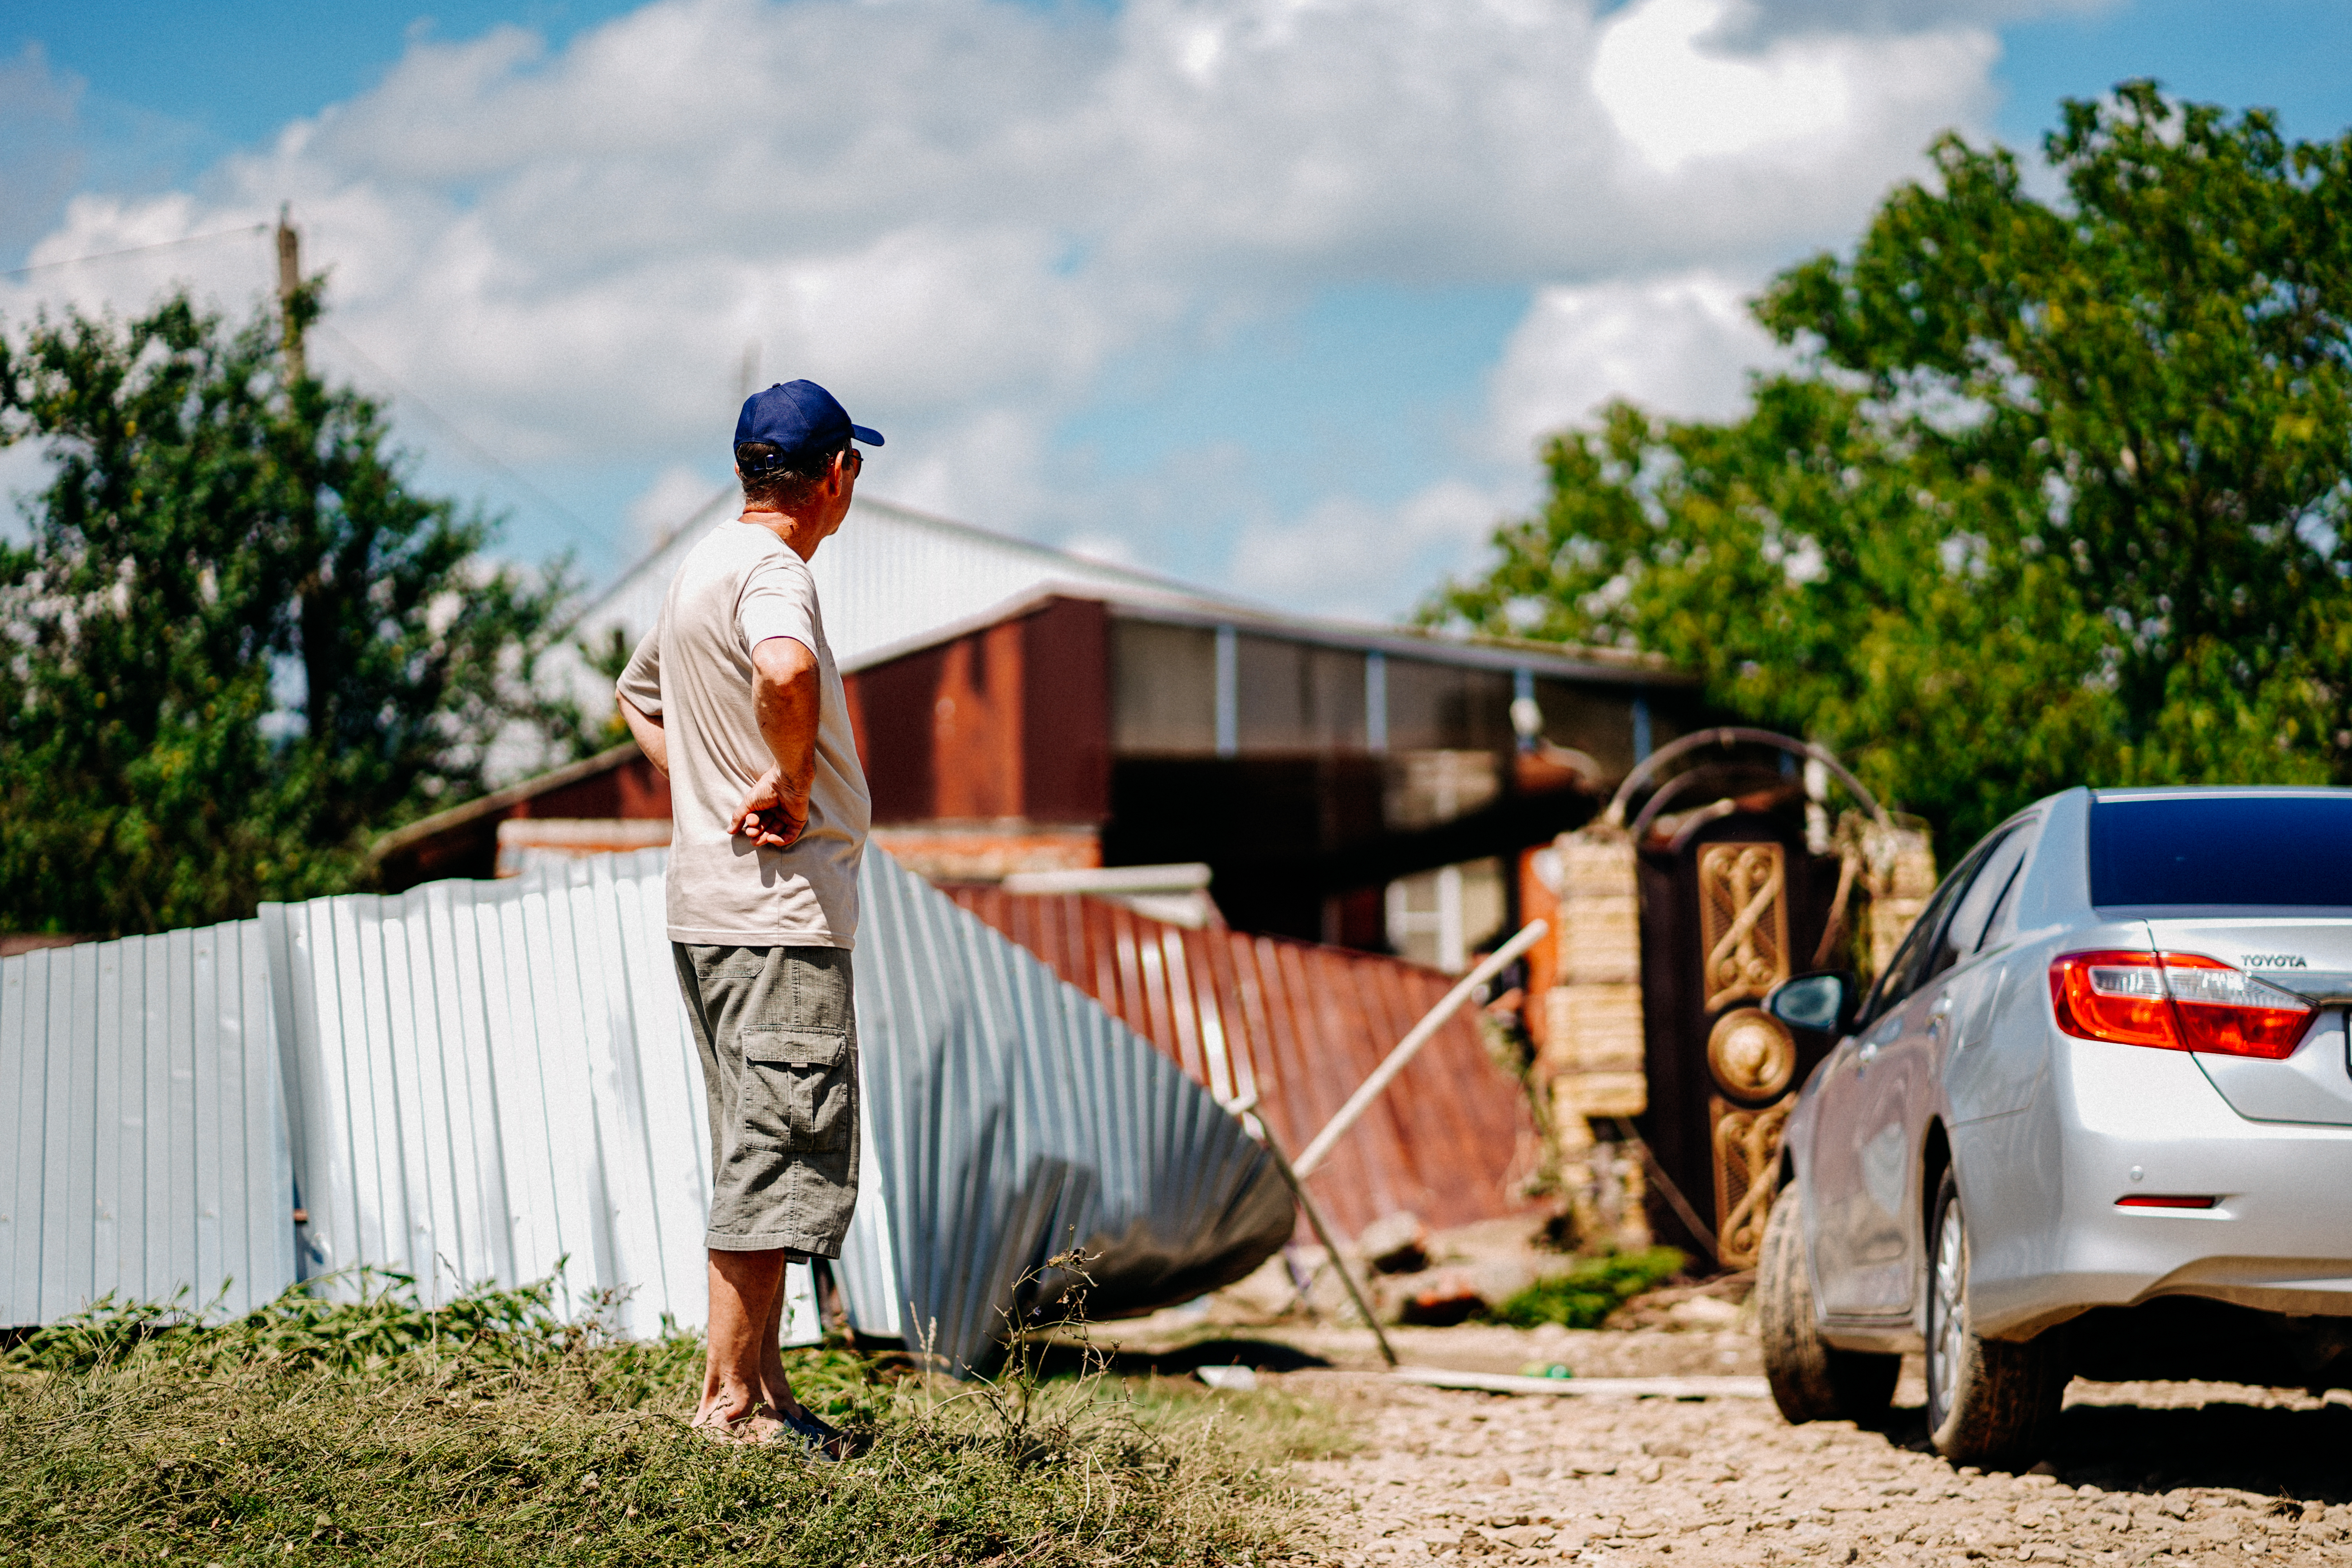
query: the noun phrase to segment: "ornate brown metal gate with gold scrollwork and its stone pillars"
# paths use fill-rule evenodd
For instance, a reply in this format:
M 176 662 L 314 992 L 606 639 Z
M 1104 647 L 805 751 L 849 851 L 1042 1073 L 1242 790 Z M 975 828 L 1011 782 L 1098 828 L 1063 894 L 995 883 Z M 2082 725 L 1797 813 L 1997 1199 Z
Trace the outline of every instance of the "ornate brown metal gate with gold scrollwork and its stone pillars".
M 1703 748 L 1719 750 L 1693 757 Z M 1788 766 L 1799 757 L 1802 780 Z M 1686 766 L 1665 776 L 1668 762 Z M 1832 776 L 1863 806 L 1835 835 Z M 1759 1004 L 1858 947 L 1884 961 L 1933 884 L 1926 835 L 1896 823 L 1825 750 L 1719 729 L 1661 750 L 1592 827 L 1548 853 L 1559 947 L 1538 1060 L 1562 1164 L 1592 1187 L 1602 1171 L 1630 1168 L 1592 1135 L 1623 1143 L 1635 1131 L 1649 1150 L 1635 1213 L 1646 1208 L 1651 1234 L 1755 1267 L 1780 1133 L 1832 1044 Z M 1849 938 L 1856 926 L 1865 940 Z M 1585 1199 L 1592 1215 L 1621 1208 L 1599 1192 Z

